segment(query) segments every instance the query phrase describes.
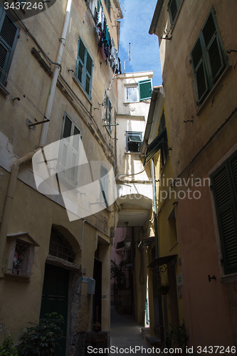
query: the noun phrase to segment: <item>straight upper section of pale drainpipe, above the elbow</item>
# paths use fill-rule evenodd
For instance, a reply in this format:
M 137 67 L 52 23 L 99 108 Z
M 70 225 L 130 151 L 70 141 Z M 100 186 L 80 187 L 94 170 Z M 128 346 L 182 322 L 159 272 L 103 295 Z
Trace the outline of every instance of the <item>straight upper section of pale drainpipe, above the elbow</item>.
M 69 19 L 70 19 L 71 5 L 72 5 L 72 0 L 68 0 L 66 14 L 65 14 L 65 21 L 64 21 L 64 25 L 63 25 L 63 32 L 62 32 L 62 36 L 60 38 L 60 46 L 58 48 L 58 56 L 56 59 L 56 63 L 58 63 L 59 66 L 56 65 L 56 67 L 54 68 L 53 79 L 51 82 L 51 90 L 48 95 L 48 102 L 47 102 L 47 106 L 46 106 L 46 115 L 45 116 L 47 117 L 47 119 L 49 119 L 49 117 L 51 116 L 51 110 L 52 110 L 52 106 L 53 106 L 53 98 L 54 98 L 54 94 L 55 94 L 55 90 L 56 90 L 58 73 L 59 73 L 59 69 L 60 69 L 60 63 L 62 61 L 63 48 L 65 46 L 65 36 L 68 31 L 68 23 L 69 23 Z M 47 131 L 48 131 L 48 123 L 49 122 L 46 122 L 43 124 L 42 131 L 41 131 L 41 140 L 40 140 L 40 145 L 39 145 L 40 147 L 44 147 L 44 145 L 46 145 L 46 135 L 47 135 Z

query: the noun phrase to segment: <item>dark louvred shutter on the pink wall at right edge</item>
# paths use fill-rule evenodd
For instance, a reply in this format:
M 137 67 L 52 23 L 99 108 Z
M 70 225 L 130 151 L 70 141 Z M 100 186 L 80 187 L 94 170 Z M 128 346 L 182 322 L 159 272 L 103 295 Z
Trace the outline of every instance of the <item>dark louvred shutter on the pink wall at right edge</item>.
M 237 272 L 237 152 L 212 175 L 226 274 Z

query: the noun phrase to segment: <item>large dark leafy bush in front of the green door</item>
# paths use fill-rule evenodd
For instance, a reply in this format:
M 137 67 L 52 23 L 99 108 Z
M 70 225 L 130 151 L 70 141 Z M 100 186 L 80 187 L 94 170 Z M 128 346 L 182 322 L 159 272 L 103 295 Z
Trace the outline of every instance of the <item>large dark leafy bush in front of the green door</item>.
M 29 323 L 31 328 L 23 329 L 20 337 L 19 356 L 53 356 L 58 340 L 63 338 L 60 324 L 64 323 L 63 316 L 58 313 L 46 314 L 39 323 Z

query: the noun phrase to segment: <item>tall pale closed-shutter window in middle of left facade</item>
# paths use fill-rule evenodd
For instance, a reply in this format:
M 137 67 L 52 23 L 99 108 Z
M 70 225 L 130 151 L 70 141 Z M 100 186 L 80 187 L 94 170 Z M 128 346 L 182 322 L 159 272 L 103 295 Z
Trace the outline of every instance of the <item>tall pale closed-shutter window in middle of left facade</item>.
M 58 173 L 67 182 L 78 184 L 80 130 L 65 114 L 58 155 Z

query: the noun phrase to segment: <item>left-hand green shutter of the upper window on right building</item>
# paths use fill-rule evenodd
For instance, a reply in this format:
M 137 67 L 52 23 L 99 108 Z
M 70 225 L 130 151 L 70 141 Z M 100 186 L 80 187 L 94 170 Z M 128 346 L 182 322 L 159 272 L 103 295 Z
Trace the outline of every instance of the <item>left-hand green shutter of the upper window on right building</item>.
M 198 103 L 201 103 L 201 100 L 204 99 L 209 88 L 206 79 L 206 68 L 204 63 L 204 55 L 201 47 L 200 36 L 195 43 L 193 51 L 191 51 L 191 63 L 194 71 L 196 93 L 198 98 L 197 101 Z

